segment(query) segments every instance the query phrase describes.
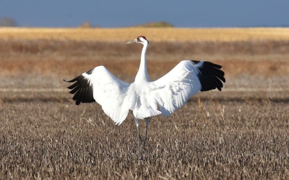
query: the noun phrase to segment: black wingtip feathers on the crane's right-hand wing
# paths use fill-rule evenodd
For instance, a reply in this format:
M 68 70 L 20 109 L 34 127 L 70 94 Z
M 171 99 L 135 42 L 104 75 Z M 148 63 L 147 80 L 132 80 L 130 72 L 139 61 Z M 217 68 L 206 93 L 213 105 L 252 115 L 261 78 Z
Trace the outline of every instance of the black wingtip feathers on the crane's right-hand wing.
M 200 71 L 198 78 L 201 83 L 200 91 L 210 91 L 212 89 L 218 89 L 222 91 L 223 83 L 226 82 L 224 77 L 224 71 L 219 64 L 214 64 L 208 61 L 191 61 Z

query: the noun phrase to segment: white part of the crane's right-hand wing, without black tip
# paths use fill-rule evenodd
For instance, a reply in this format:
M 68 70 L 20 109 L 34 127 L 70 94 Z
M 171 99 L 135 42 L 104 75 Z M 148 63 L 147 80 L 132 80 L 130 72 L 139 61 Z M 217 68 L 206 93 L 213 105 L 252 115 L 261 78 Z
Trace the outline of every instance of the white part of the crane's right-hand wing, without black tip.
M 182 107 L 201 89 L 198 66 L 191 61 L 181 61 L 169 73 L 151 82 L 151 95 L 159 105 L 163 116 L 168 116 Z

